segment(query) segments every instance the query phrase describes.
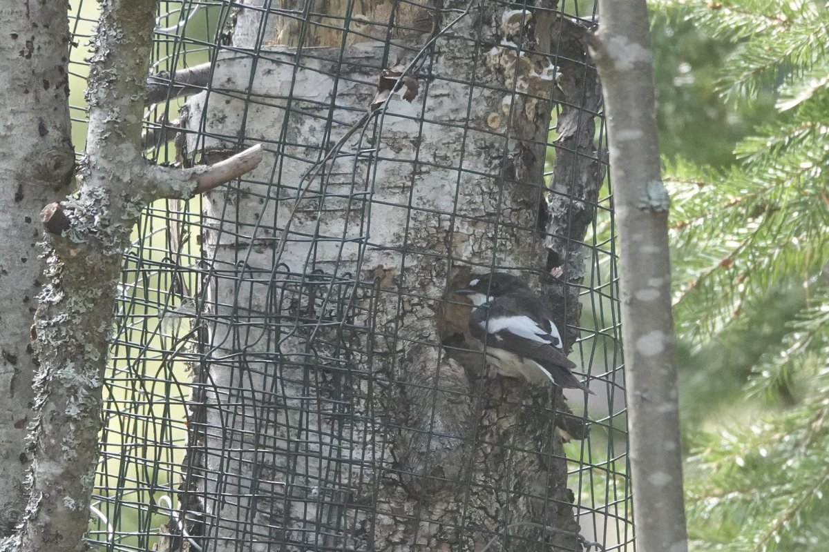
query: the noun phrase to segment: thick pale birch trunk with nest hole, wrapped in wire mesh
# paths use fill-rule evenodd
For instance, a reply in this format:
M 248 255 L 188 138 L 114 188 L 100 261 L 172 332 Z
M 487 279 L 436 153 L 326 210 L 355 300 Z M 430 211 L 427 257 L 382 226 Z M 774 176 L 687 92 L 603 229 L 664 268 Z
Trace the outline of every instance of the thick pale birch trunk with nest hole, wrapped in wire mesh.
M 363 120 L 381 70 L 458 17 L 356 4 L 369 37 L 240 9 L 234 46 L 256 48 L 255 61 L 222 53 L 214 91 L 182 121 L 197 131 L 191 162 L 240 136 L 272 152 L 250 180 L 206 196 L 210 354 L 180 494 L 187 532 L 210 550 L 480 550 L 497 533 L 509 536 L 489 550 L 581 550 L 554 432 L 560 393 L 486 377 L 480 358 L 442 348 L 464 344 L 468 307 L 448 306 L 461 299 L 447 290 L 472 271 L 545 272 L 553 68 L 502 40 L 538 50 L 536 33 L 560 22 L 476 2 L 418 71 L 414 101 L 393 98 L 310 181 Z M 581 124 L 588 139 L 573 141 L 589 149 Z

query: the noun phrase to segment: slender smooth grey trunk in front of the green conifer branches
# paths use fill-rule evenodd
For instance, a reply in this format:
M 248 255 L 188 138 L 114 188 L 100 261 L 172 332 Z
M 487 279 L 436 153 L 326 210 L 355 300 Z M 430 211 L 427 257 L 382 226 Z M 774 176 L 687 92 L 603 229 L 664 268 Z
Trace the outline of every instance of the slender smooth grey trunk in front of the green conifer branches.
M 687 550 L 671 319 L 667 190 L 657 145 L 645 0 L 599 2 L 594 57 L 604 86 L 620 242 L 619 279 L 637 550 Z

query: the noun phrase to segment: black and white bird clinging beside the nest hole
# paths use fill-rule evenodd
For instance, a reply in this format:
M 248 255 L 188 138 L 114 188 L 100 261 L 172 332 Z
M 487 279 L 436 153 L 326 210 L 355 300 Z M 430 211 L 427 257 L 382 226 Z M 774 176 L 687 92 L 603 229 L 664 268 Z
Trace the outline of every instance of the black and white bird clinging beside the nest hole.
M 575 363 L 563 351 L 561 334 L 544 300 L 520 278 L 504 272 L 473 275 L 456 293 L 475 305 L 469 332 L 499 374 L 593 393 L 573 375 Z

